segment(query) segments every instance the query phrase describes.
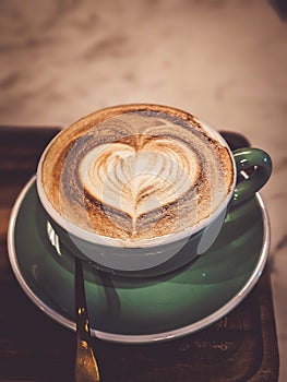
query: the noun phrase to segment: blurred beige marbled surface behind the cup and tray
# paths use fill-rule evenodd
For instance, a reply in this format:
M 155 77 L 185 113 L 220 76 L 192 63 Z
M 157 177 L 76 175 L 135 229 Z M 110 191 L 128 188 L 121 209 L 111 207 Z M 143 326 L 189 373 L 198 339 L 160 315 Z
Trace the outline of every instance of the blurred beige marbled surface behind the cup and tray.
M 261 192 L 287 381 L 286 1 L 0 0 L 0 124 L 69 126 L 98 108 L 158 103 L 266 150 Z

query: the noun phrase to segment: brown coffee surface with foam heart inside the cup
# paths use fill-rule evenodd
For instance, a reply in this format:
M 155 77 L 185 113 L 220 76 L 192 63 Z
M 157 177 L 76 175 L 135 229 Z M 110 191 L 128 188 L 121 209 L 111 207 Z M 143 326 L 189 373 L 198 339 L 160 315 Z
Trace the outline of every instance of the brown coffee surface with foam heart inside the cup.
M 207 219 L 234 183 L 228 148 L 191 115 L 153 105 L 108 108 L 48 146 L 41 183 L 67 220 L 139 241 Z

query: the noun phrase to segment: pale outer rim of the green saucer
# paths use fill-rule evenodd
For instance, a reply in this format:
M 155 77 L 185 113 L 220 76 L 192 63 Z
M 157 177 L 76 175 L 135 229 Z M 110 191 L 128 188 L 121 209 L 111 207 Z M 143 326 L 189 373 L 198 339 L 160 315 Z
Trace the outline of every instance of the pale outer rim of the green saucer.
M 41 299 L 29 288 L 19 266 L 17 254 L 16 254 L 15 243 L 14 243 L 15 224 L 16 224 L 20 207 L 25 199 L 25 195 L 35 181 L 36 181 L 36 176 L 33 176 L 27 181 L 27 183 L 23 187 L 22 191 L 20 192 L 12 207 L 9 226 L 8 226 L 8 238 L 7 238 L 9 260 L 20 286 L 22 287 L 26 296 L 36 305 L 36 307 L 39 308 L 45 314 L 50 317 L 52 320 L 55 320 L 62 326 L 68 327 L 72 331 L 75 331 L 76 324 L 73 320 L 68 319 L 62 314 L 60 314 L 59 312 L 57 312 L 56 310 L 51 309 L 48 305 L 43 302 Z M 195 333 L 215 323 L 216 321 L 222 319 L 224 315 L 228 314 L 231 310 L 234 310 L 249 295 L 249 293 L 255 286 L 255 284 L 258 283 L 264 270 L 264 266 L 268 258 L 268 249 L 271 244 L 270 217 L 267 214 L 265 203 L 262 196 L 260 195 L 260 193 L 256 192 L 254 198 L 256 199 L 256 203 L 261 210 L 262 222 L 263 222 L 261 252 L 259 254 L 259 261 L 255 267 L 253 268 L 252 273 L 250 274 L 250 277 L 244 283 L 243 287 L 241 287 L 240 290 L 238 290 L 238 293 L 231 299 L 229 299 L 228 302 L 223 305 L 222 308 L 217 309 L 212 314 L 196 322 L 193 322 L 192 324 L 177 327 L 170 331 L 157 332 L 154 334 L 129 335 L 129 334 L 116 334 L 110 332 L 104 332 L 104 331 L 98 331 L 91 327 L 91 334 L 100 339 L 105 339 L 113 343 L 122 343 L 122 344 L 157 343 L 157 342 L 174 339 L 174 338 L 182 337 L 188 334 Z

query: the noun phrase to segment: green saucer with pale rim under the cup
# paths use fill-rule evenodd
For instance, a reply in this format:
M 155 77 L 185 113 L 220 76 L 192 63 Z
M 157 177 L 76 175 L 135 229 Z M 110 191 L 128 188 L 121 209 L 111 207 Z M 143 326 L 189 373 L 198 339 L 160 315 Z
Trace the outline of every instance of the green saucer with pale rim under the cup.
M 53 320 L 75 330 L 74 260 L 57 251 L 48 237 L 35 178 L 13 207 L 8 247 L 26 295 Z M 147 343 L 199 331 L 251 291 L 264 268 L 268 247 L 268 216 L 258 194 L 230 211 L 210 250 L 177 272 L 124 278 L 85 264 L 92 334 L 113 342 Z

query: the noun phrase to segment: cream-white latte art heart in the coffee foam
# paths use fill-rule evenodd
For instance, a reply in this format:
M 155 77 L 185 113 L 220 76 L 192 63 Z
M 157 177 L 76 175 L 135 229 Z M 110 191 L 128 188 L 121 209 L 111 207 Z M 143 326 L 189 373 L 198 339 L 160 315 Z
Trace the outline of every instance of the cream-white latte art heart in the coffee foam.
M 92 198 L 136 219 L 160 206 L 177 202 L 196 178 L 199 165 L 184 146 L 157 139 L 135 150 L 110 143 L 92 150 L 81 162 L 81 182 Z M 163 148 L 165 147 L 165 152 Z M 112 217 L 111 217 L 112 218 Z

